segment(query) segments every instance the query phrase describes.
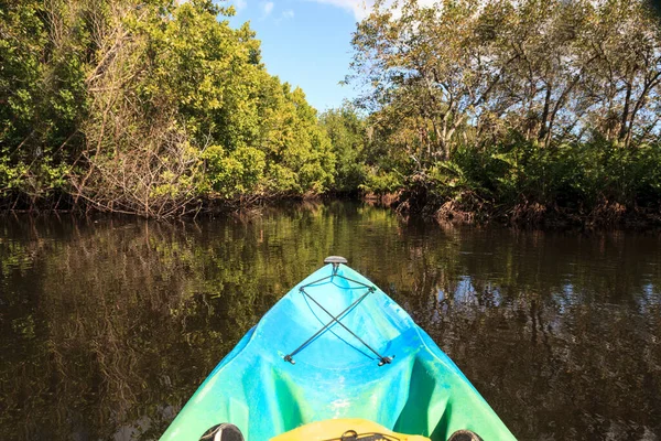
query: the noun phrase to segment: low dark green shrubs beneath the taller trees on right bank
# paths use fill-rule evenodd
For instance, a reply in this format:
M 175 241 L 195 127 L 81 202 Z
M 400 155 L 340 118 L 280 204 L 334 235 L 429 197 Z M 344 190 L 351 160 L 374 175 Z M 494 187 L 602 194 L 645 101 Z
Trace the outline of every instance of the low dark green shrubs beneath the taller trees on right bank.
M 491 208 L 511 211 L 518 204 L 587 215 L 604 205 L 658 207 L 661 147 L 622 149 L 608 142 L 534 143 L 462 147 L 452 161 L 429 171 L 427 184 L 441 201 L 467 193 L 490 201 Z

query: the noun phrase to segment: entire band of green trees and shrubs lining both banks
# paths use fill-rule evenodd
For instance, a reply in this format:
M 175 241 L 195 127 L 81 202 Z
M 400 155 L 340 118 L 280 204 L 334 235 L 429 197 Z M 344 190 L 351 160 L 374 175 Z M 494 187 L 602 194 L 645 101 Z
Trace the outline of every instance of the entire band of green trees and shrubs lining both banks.
M 379 0 L 353 40 L 365 94 L 319 116 L 210 0 L 0 1 L 6 208 L 362 193 L 463 220 L 661 218 L 642 0 Z

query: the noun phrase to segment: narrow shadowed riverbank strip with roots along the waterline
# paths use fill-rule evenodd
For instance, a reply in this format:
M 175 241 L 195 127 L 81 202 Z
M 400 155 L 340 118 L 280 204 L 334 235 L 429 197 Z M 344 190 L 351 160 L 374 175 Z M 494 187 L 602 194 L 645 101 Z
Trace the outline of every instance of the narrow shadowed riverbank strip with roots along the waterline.
M 181 207 L 176 216 L 156 217 L 159 220 L 174 218 L 191 219 L 215 216 L 253 216 L 272 209 L 285 207 L 314 207 L 334 202 L 359 202 L 367 205 L 389 208 L 408 220 L 421 220 L 433 224 L 454 224 L 532 228 L 585 228 L 585 229 L 655 229 L 661 227 L 661 208 L 627 206 L 604 201 L 590 208 L 563 207 L 557 204 L 542 205 L 539 203 L 521 202 L 518 204 L 496 204 L 492 201 L 479 200 L 473 194 L 463 197 L 443 198 L 418 189 L 418 192 L 399 191 L 383 194 L 333 193 L 322 195 L 299 196 L 250 196 L 235 200 L 206 197 L 191 202 Z M 150 216 L 126 213 L 121 209 L 94 206 L 91 204 L 76 205 L 72 196 L 62 196 L 55 204 L 41 201 L 34 205 L 25 202 L 4 201 L 0 204 L 0 215 L 33 214 L 33 215 L 121 215 L 128 218 L 150 218 Z

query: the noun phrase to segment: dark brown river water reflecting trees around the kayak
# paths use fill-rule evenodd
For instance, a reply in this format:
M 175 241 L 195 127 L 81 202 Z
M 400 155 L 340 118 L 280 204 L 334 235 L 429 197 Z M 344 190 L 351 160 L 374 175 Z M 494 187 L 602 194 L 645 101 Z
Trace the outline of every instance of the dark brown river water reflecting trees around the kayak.
M 330 254 L 402 304 L 519 439 L 661 438 L 661 235 L 411 225 L 335 203 L 0 218 L 0 439 L 158 438 Z

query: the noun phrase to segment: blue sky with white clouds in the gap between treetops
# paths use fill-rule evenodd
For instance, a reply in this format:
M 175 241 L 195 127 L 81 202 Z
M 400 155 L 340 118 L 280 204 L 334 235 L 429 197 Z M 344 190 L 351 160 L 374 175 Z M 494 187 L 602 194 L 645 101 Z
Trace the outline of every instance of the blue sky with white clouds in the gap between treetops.
M 249 21 L 261 40 L 262 61 L 272 75 L 300 86 L 317 110 L 356 96 L 338 83 L 349 73 L 351 33 L 365 15 L 364 0 L 231 0 L 230 23 Z M 223 3 L 221 3 L 223 4 Z M 227 3 L 225 3 L 227 4 Z

